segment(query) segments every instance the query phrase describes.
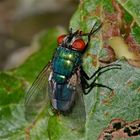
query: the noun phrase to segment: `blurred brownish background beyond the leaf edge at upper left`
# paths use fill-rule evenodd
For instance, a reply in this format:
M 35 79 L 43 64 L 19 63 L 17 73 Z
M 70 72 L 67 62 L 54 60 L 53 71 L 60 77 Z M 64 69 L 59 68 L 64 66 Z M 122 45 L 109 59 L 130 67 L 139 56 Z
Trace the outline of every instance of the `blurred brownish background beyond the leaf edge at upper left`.
M 33 38 L 66 27 L 79 0 L 0 0 L 0 70 L 20 65 L 36 48 Z M 34 45 L 35 46 L 35 45 Z

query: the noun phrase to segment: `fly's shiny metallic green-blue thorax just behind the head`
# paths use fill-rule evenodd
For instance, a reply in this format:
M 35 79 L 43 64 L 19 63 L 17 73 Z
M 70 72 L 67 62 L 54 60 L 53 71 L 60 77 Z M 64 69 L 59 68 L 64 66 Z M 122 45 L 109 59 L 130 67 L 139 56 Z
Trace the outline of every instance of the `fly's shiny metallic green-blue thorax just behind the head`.
M 53 79 L 57 83 L 65 82 L 71 76 L 72 72 L 74 72 L 74 69 L 81 64 L 81 56 L 80 52 L 64 47 L 57 48 L 52 62 Z

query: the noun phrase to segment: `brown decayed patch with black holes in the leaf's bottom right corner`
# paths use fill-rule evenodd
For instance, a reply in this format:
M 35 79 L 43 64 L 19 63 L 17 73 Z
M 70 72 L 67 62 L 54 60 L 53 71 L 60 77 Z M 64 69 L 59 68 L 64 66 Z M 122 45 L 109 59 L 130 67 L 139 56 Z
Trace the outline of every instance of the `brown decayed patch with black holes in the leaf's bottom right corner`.
M 140 120 L 127 123 L 122 119 L 113 119 L 101 132 L 98 140 L 104 140 L 107 136 L 111 138 L 110 140 L 140 136 Z

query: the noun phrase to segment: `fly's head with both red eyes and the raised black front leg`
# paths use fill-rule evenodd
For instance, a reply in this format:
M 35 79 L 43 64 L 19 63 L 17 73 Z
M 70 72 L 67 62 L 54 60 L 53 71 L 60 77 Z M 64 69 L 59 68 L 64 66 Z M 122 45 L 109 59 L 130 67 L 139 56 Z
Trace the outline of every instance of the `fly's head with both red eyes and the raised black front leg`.
M 96 27 L 97 23 L 95 23 L 89 33 L 83 33 L 80 30 L 72 32 L 72 29 L 70 29 L 68 34 L 60 35 L 57 38 L 58 46 L 69 48 L 81 53 L 85 52 L 90 42 L 90 37 L 101 28 L 101 25 L 102 24 Z M 88 37 L 87 42 L 84 41 L 83 36 Z

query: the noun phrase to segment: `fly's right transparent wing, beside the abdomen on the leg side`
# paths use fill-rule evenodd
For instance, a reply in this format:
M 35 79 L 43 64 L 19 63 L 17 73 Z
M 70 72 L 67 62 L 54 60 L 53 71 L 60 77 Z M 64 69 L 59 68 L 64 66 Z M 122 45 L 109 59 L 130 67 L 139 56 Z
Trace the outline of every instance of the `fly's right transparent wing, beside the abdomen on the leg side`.
M 86 112 L 80 75 L 75 74 L 70 81 L 72 81 L 71 84 L 73 84 L 72 86 L 75 89 L 75 102 L 71 112 L 63 116 L 63 119 L 65 120 L 67 127 L 70 127 L 71 130 L 83 132 L 85 129 Z

